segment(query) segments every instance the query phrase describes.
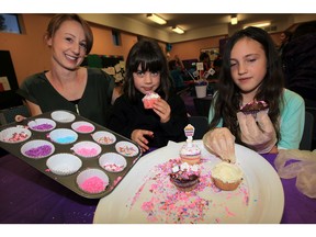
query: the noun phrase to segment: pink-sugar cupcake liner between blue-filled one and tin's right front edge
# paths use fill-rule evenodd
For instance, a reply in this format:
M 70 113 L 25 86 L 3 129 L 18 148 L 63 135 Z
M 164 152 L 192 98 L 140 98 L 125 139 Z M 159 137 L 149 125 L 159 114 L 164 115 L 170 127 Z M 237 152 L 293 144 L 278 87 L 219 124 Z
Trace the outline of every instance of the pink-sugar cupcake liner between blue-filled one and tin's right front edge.
M 99 146 L 97 143 L 83 140 L 80 143 L 77 143 L 71 148 L 78 156 L 80 157 L 95 157 L 101 154 L 101 146 Z

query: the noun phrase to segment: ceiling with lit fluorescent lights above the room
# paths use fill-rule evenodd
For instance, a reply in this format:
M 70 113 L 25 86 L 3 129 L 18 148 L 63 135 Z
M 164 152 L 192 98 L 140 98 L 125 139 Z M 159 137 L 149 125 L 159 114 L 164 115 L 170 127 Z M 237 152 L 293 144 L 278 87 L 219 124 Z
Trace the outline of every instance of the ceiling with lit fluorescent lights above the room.
M 316 20 L 316 14 L 305 13 L 240 13 L 237 14 L 238 24 L 230 25 L 230 13 L 157 13 L 167 21 L 159 25 L 146 18 L 146 13 L 105 13 L 81 14 L 90 22 L 103 24 L 137 35 L 153 37 L 162 42 L 177 43 L 205 38 L 217 35 L 230 35 L 245 25 L 263 21 L 271 22 L 275 32 L 282 32 L 292 25 Z M 171 31 L 172 26 L 180 26 L 185 31 L 179 35 Z

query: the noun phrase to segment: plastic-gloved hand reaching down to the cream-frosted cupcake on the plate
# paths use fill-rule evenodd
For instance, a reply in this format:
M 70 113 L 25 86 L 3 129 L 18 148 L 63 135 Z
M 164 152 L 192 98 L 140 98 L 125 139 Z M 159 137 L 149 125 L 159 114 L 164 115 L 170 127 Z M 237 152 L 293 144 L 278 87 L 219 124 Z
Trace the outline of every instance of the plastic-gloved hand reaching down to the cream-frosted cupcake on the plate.
M 217 127 L 203 136 L 203 144 L 208 151 L 221 159 L 235 163 L 235 136 L 227 127 Z

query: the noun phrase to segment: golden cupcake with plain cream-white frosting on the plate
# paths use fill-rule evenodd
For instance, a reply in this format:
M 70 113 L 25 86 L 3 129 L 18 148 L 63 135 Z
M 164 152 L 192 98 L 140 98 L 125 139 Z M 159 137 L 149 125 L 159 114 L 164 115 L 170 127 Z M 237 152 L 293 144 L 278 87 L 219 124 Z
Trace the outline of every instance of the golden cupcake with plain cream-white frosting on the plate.
M 233 191 L 241 183 L 242 171 L 234 163 L 222 161 L 212 168 L 211 177 L 218 189 Z

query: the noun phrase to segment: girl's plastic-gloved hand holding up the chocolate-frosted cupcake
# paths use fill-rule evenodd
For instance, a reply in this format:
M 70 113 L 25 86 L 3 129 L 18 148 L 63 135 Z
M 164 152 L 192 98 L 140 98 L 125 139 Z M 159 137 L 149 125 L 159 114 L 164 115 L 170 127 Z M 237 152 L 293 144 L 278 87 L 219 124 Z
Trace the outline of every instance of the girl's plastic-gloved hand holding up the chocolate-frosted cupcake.
M 237 113 L 241 140 L 259 154 L 267 154 L 276 144 L 276 133 L 267 112 L 260 111 L 256 119 L 251 114 Z

